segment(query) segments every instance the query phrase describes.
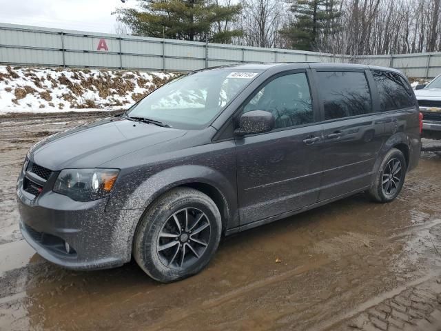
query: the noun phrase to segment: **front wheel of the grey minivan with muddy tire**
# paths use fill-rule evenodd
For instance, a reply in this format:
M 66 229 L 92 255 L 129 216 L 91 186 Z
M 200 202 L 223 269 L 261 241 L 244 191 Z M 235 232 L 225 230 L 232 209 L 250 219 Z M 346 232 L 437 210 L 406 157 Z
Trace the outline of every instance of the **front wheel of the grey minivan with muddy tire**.
M 212 199 L 193 188 L 174 188 L 143 215 L 135 232 L 134 259 L 156 281 L 185 279 L 209 263 L 221 232 L 220 213 Z

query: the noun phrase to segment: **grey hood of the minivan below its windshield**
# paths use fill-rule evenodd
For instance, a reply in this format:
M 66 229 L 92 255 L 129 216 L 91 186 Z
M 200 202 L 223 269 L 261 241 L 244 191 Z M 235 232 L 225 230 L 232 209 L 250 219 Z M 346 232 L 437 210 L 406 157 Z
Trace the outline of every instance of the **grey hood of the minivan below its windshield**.
M 30 150 L 31 159 L 50 170 L 95 168 L 130 152 L 182 137 L 187 131 L 110 118 L 54 134 Z

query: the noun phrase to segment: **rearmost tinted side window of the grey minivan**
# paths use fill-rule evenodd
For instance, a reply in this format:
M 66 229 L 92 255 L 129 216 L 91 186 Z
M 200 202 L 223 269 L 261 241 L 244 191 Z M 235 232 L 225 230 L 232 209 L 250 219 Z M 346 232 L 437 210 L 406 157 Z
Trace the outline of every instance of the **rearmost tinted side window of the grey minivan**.
M 372 71 L 380 96 L 380 110 L 396 110 L 415 106 L 407 84 L 399 74 L 387 71 Z

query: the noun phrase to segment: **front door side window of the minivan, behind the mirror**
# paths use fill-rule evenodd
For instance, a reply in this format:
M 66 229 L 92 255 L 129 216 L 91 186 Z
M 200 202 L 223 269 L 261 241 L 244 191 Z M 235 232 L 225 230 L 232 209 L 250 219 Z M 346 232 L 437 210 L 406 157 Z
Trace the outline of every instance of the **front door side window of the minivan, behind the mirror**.
M 314 122 L 311 94 L 306 74 L 287 74 L 261 88 L 243 108 L 243 112 L 271 112 L 275 128 L 300 126 Z

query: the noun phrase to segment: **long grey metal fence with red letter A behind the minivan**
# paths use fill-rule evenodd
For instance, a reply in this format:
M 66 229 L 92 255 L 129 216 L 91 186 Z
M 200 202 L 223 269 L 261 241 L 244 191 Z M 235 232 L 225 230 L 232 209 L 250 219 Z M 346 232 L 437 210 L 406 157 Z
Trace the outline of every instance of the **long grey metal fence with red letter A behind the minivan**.
M 409 77 L 441 73 L 441 52 L 363 56 Z M 177 41 L 0 23 L 0 63 L 32 66 L 188 71 L 232 63 L 351 61 L 340 54 Z

